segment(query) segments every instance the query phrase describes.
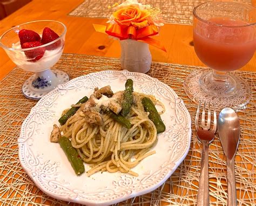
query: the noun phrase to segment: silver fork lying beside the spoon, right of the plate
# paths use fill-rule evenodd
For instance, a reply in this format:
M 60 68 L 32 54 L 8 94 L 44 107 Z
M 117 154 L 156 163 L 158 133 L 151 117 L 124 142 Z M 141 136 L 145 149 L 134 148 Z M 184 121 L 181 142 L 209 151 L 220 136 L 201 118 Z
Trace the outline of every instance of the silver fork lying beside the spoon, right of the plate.
M 200 105 L 197 108 L 196 115 L 196 129 L 197 129 L 197 137 L 203 145 L 202 154 L 201 154 L 201 173 L 199 179 L 199 188 L 197 195 L 197 205 L 205 206 L 209 205 L 209 176 L 208 176 L 208 145 L 213 141 L 214 134 L 217 129 L 217 115 L 214 109 L 213 112 L 213 128 L 211 129 L 211 108 L 210 103 L 208 106 L 208 114 L 207 114 L 207 123 L 205 123 L 205 102 L 204 108 L 201 115 L 201 125 L 199 125 L 199 113 L 200 113 Z M 201 128 L 200 128 L 201 127 Z

